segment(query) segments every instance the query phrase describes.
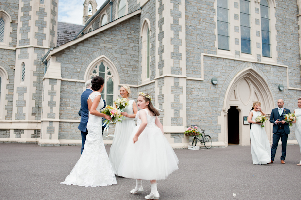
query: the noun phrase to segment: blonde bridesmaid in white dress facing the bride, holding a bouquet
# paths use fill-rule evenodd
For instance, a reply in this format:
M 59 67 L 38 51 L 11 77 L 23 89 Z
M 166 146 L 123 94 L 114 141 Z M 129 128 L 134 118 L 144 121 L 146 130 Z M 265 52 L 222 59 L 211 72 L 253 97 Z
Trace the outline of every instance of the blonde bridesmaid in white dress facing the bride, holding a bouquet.
M 111 161 L 114 173 L 118 175 L 119 164 L 124 154 L 124 150 L 128 145 L 131 133 L 136 127 L 134 118 L 138 112 L 137 104 L 134 100 L 130 100 L 131 88 L 123 85 L 120 88 L 120 96 L 129 100 L 129 105 L 124 108 L 121 114 L 124 116 L 122 122 L 117 122 L 114 131 L 114 139 L 110 148 L 109 159 Z

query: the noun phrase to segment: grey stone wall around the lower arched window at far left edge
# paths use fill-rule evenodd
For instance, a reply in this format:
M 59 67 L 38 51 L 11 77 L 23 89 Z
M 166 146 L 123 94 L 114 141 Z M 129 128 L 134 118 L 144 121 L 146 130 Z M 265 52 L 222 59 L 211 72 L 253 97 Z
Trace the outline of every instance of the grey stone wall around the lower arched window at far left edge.
M 4 108 L 2 108 L 5 112 L 5 120 L 12 120 L 12 115 L 13 115 L 15 59 L 16 59 L 16 51 L 0 49 L 0 66 L 3 67 L 8 74 L 8 84 L 6 84 L 5 86 L 5 89 L 8 89 L 8 93 L 5 94 L 5 99 L 3 99 L 3 101 L 7 100 L 7 104 L 5 105 Z M 4 81 L 2 82 L 2 84 L 3 83 Z

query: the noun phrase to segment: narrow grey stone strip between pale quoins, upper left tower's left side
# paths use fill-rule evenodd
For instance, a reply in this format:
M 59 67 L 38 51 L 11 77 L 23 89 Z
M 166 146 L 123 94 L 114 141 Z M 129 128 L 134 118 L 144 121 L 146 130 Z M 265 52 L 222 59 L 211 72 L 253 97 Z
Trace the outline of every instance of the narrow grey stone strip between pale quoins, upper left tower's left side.
M 24 7 L 21 8 L 21 19 L 22 27 L 20 27 L 21 39 L 19 39 L 19 46 L 29 45 L 28 33 L 30 32 L 29 21 L 32 16 L 29 12 L 32 11 L 32 6 L 30 5 L 31 0 L 22 0 L 24 2 Z

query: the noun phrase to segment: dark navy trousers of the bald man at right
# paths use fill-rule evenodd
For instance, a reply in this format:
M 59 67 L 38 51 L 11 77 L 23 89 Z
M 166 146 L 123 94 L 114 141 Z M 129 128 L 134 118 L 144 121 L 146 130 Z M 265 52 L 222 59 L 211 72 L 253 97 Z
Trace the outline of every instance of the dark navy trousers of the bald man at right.
M 287 138 L 288 135 L 284 132 L 284 128 L 282 129 L 278 129 L 276 133 L 273 134 L 273 146 L 272 146 L 272 158 L 271 160 L 274 160 L 275 158 L 275 154 L 276 154 L 276 150 L 277 150 L 277 146 L 278 146 L 278 142 L 279 139 L 281 138 L 281 160 L 285 160 L 285 156 L 286 156 L 286 143 L 287 143 Z

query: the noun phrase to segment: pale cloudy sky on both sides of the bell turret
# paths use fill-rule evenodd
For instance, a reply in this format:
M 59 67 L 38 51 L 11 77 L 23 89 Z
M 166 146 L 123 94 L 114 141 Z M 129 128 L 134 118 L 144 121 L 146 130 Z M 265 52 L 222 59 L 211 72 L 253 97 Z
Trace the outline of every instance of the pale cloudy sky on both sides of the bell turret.
M 105 2 L 105 0 L 96 0 L 97 8 Z M 83 24 L 84 0 L 59 0 L 58 21 L 72 24 Z

